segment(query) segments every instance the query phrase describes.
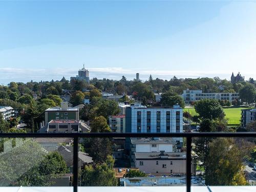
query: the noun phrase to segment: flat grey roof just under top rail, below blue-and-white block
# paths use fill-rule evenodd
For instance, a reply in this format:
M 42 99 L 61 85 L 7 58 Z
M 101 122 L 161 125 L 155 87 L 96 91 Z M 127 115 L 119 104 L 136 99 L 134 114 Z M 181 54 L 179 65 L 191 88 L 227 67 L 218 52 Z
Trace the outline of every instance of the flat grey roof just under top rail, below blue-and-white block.
M 158 144 L 176 144 L 172 138 L 131 138 L 133 144 L 149 144 L 149 143 L 158 143 Z

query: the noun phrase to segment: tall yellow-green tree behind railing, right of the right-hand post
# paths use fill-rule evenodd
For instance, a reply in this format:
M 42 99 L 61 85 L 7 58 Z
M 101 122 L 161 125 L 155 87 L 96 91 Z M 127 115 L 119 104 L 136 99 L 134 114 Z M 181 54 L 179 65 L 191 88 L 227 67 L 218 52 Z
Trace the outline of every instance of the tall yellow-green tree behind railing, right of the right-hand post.
M 206 164 L 206 185 L 246 185 L 243 156 L 233 139 L 213 140 Z

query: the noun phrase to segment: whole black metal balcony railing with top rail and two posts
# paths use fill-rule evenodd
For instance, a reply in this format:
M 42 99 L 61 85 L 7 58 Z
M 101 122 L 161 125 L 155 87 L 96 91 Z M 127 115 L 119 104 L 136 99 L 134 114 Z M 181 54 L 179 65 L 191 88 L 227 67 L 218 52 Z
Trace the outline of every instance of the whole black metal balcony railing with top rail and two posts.
M 78 139 L 110 137 L 185 137 L 186 138 L 186 191 L 191 191 L 191 139 L 193 137 L 256 137 L 256 132 L 211 132 L 211 133 L 0 133 L 0 138 L 74 138 L 73 191 L 78 189 Z

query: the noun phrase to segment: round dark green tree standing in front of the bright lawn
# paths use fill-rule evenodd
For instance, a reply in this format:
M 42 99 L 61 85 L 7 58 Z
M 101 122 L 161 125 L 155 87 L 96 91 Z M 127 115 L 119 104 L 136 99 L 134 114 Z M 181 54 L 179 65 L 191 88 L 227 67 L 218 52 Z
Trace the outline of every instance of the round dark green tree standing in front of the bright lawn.
M 223 118 L 224 112 L 217 99 L 201 99 L 195 103 L 196 112 L 206 119 Z

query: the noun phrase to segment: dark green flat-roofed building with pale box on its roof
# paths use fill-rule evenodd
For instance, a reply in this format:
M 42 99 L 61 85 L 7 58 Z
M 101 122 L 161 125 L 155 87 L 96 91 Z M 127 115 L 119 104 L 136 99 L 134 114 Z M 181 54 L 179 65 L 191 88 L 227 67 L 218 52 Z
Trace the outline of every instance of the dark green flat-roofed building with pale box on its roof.
M 68 102 L 61 102 L 60 107 L 48 108 L 45 111 L 45 123 L 47 124 L 51 120 L 78 120 L 79 109 L 71 108 L 68 105 Z

